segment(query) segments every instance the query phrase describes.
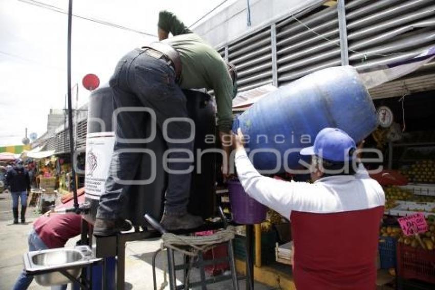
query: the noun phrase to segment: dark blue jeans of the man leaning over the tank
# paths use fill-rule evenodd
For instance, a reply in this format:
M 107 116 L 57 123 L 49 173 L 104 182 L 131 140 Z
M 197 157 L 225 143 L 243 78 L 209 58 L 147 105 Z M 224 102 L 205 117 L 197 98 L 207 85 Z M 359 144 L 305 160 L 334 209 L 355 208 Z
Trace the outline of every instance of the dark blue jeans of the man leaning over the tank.
M 139 168 L 141 155 L 146 154 L 140 152 L 145 147 L 146 140 L 138 141 L 138 139 L 149 137 L 145 136 L 144 132 L 146 114 L 149 113 L 134 112 L 133 109 L 126 109 L 127 107 L 136 107 L 134 109 L 139 110 L 151 109 L 155 114 L 156 126 L 160 132 L 165 130 L 163 133 L 167 136 L 165 138 L 167 147 L 173 150 L 168 158 L 176 160 L 167 164 L 167 168 L 173 173 L 168 172 L 165 211 L 175 214 L 187 212 L 191 182 L 191 174 L 187 171 L 192 162 L 187 161 L 189 154 L 186 151 L 192 152 L 193 140 L 186 139 L 194 136 L 194 128 L 191 128 L 187 121 L 178 120 L 166 123 L 167 126 L 165 126 L 165 120 L 168 118 L 188 118 L 186 96 L 176 84 L 175 72 L 163 59 L 151 57 L 143 50 L 136 49 L 119 61 L 109 84 L 114 93 L 115 111 L 124 108 L 126 112 L 119 113 L 116 118 L 114 130 L 117 139 L 109 176 L 105 183 L 105 193 L 100 197 L 97 218 L 122 217 L 125 192 L 130 185 L 120 184 L 116 178 L 133 180 Z M 188 120 L 191 121 L 191 119 Z M 157 128 L 155 131 L 159 134 Z M 157 162 L 162 162 L 162 160 L 157 160 Z M 180 173 L 181 171 L 185 172 Z

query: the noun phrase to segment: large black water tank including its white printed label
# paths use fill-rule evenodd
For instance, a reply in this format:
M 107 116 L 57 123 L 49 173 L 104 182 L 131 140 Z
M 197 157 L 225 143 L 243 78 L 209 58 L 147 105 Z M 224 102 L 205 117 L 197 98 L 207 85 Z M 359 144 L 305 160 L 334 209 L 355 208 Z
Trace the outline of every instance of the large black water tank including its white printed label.
M 215 144 L 206 142 L 206 135 L 215 135 L 215 111 L 210 96 L 199 91 L 183 91 L 187 97 L 187 109 L 189 117 L 195 122 L 194 153 L 197 149 L 207 150 L 214 148 Z M 113 150 L 114 134 L 112 130 L 112 105 L 113 92 L 107 85 L 95 90 L 90 97 L 88 111 L 88 135 L 86 137 L 86 172 L 85 172 L 85 196 L 91 204 L 91 213 L 85 219 L 93 223 L 98 208 L 99 196 L 103 192 L 105 177 L 107 176 L 108 161 Z M 144 128 L 146 136 L 149 136 L 150 122 L 146 122 Z M 156 155 L 156 170 L 154 182 L 146 185 L 133 185 L 126 194 L 124 217 L 134 225 L 144 225 L 144 214 L 147 213 L 155 219 L 160 219 L 163 211 L 163 201 L 167 185 L 167 174 L 164 171 L 163 154 L 167 149 L 162 133 L 157 129 L 156 138 L 146 144 L 146 149 L 152 150 Z M 89 158 L 91 155 L 92 158 Z M 194 154 L 194 170 L 188 210 L 190 213 L 200 215 L 203 218 L 211 217 L 215 210 L 215 161 L 216 155 L 212 153 Z M 98 176 L 98 169 L 90 166 L 92 161 L 99 158 L 98 166 L 103 169 L 102 176 Z M 97 162 L 94 162 L 97 163 Z M 141 165 L 135 180 L 147 180 L 151 176 L 150 156 L 141 156 Z M 197 167 L 201 166 L 201 174 Z M 91 174 L 90 168 L 93 169 Z M 105 177 L 104 177 L 105 176 Z

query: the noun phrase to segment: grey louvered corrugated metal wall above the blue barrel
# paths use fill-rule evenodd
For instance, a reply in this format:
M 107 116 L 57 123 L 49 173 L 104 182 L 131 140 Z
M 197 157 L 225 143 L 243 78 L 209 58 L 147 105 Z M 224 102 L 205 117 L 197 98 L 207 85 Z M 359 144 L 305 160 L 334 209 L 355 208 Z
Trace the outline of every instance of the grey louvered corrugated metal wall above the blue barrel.
M 349 63 L 358 70 L 417 56 L 435 45 L 433 0 L 346 1 Z M 316 70 L 341 65 L 337 5 L 301 12 L 220 48 L 238 69 L 240 91 L 282 86 Z M 416 74 L 422 76 L 415 77 Z M 433 63 L 371 90 L 374 97 L 435 89 Z M 406 86 L 399 90 L 398 86 Z M 392 92 L 393 90 L 393 92 Z

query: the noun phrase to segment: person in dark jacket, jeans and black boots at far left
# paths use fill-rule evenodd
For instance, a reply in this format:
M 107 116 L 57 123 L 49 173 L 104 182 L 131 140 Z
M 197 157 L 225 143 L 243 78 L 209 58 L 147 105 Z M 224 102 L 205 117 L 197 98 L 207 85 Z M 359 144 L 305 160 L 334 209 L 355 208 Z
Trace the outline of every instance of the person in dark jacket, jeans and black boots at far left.
M 6 182 L 12 196 L 14 223 L 18 223 L 19 200 L 21 200 L 21 223 L 25 223 L 27 196 L 30 193 L 30 178 L 29 173 L 23 167 L 23 161 L 17 161 L 16 165 L 6 173 Z

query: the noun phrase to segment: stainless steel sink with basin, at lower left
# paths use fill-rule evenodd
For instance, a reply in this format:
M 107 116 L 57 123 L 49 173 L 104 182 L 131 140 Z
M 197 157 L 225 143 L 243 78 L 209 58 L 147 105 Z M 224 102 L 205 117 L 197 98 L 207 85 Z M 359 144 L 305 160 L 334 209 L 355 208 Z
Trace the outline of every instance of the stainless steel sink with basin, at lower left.
M 41 286 L 62 285 L 71 282 L 59 271 L 66 271 L 74 278 L 80 276 L 81 268 L 100 259 L 95 258 L 89 246 L 54 248 L 24 254 L 24 268 L 35 275 Z

